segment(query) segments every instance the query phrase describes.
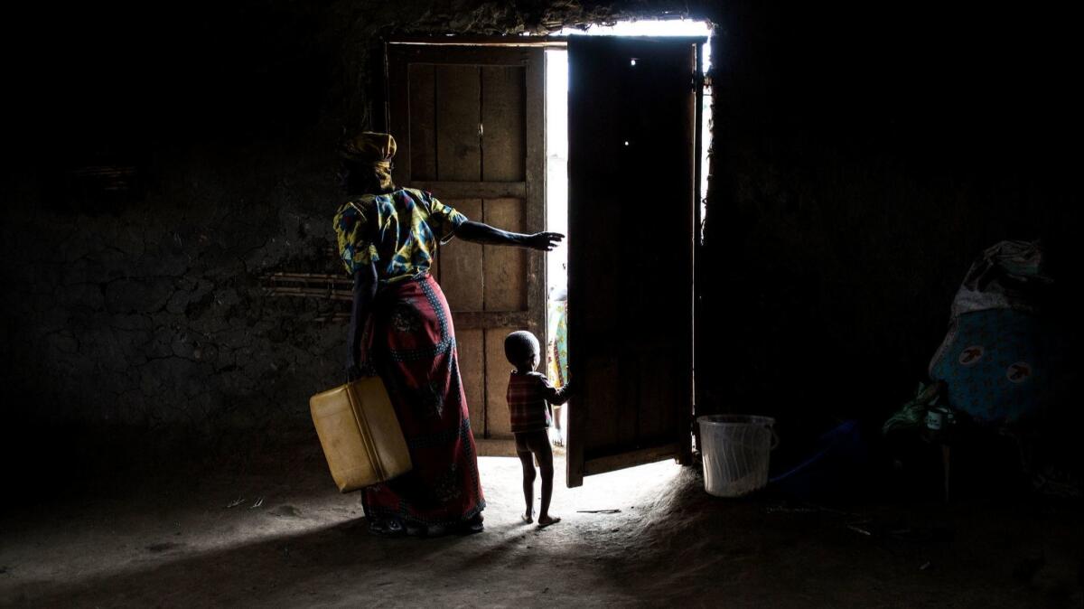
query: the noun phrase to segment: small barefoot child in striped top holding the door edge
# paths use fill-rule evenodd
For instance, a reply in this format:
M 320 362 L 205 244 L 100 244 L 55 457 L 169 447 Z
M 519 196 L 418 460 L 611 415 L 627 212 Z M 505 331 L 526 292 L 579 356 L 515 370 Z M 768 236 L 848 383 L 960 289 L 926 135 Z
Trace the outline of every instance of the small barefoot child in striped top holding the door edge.
M 568 401 L 568 385 L 554 389 L 542 374 L 534 372 L 539 365 L 539 340 L 534 335 L 519 331 L 504 338 L 504 355 L 516 366 L 508 378 L 508 413 L 512 415 L 512 432 L 516 436 L 516 454 L 524 466 L 524 500 L 527 511 L 521 517 L 525 523 L 534 521 L 531 509 L 534 503 L 534 463 L 538 458 L 542 469 L 542 507 L 539 511 L 539 527 L 560 522 L 560 518 L 550 515 L 550 500 L 553 497 L 553 451 L 550 449 L 549 427 L 553 425 L 550 404 Z

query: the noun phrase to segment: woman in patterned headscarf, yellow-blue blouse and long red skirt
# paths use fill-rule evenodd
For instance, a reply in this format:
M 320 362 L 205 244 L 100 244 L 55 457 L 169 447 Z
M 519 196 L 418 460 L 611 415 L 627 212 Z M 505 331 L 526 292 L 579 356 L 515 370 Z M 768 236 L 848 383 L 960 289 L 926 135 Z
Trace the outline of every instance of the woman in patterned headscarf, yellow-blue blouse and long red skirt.
M 454 236 L 549 251 L 558 233 L 525 235 L 473 222 L 429 193 L 391 182 L 396 141 L 364 132 L 341 146 L 349 200 L 335 233 L 353 276 L 347 378 L 378 374 L 399 417 L 414 468 L 362 491 L 370 529 L 380 534 L 481 531 L 486 507 L 455 329 L 429 265 Z M 363 340 L 363 337 L 364 340 Z

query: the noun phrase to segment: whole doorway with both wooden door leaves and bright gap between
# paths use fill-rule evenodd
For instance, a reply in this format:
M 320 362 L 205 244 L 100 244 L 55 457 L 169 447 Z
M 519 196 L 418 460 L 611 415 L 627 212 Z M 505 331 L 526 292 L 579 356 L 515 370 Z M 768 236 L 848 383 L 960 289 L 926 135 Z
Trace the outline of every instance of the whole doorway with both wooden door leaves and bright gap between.
M 662 23 L 673 29 L 675 22 Z M 569 485 L 584 475 L 687 461 L 693 249 L 707 147 L 695 135 L 697 120 L 707 120 L 695 102 L 707 36 L 678 34 L 389 44 L 387 125 L 403 142 L 397 183 L 504 229 L 569 236 L 549 256 L 456 241 L 438 256 L 434 274 L 453 311 L 479 454 L 514 454 L 502 342 L 526 328 L 546 345 L 543 372 L 556 385 L 582 379 L 555 413 Z M 578 69 L 595 74 L 584 80 Z M 668 161 L 645 165 L 651 142 L 669 151 Z M 669 172 L 667 189 L 632 185 L 653 167 Z M 649 200 L 661 217 L 644 215 Z M 629 245 L 637 225 L 659 229 L 656 251 Z M 669 304 L 650 309 L 635 278 L 644 273 L 680 286 Z M 622 294 L 629 302 L 617 307 Z M 669 321 L 644 321 L 658 319 Z

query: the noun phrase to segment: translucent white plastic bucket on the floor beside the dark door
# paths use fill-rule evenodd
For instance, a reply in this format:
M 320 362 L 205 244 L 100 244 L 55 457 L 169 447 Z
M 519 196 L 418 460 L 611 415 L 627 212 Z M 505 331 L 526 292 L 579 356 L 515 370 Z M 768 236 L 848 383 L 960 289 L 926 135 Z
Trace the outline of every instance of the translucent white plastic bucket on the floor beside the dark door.
M 778 438 L 770 416 L 717 414 L 698 417 L 704 488 L 738 497 L 767 484 L 767 463 Z

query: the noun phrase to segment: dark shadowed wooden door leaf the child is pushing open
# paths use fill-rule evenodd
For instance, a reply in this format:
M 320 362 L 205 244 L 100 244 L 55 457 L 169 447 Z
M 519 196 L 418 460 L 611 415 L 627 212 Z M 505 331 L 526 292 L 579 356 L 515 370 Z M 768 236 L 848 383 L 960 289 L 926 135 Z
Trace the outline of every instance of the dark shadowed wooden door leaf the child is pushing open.
M 569 487 L 689 456 L 698 42 L 568 43 Z

